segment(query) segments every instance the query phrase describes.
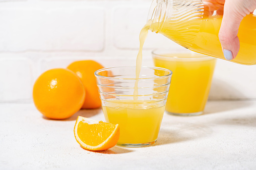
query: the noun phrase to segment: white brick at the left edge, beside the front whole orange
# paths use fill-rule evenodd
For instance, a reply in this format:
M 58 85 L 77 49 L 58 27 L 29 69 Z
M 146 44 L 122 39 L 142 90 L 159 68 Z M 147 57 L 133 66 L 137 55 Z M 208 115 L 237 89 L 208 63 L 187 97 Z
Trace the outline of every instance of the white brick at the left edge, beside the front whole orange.
M 32 68 L 26 58 L 0 58 L 0 102 L 32 99 Z

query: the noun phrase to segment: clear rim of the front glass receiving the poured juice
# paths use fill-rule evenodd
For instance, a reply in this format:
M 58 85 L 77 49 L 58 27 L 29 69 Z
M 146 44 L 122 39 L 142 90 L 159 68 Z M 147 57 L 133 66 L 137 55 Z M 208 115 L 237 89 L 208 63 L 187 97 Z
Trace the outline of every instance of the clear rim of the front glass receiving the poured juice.
M 103 71 L 103 70 L 107 70 L 107 69 L 113 69 L 113 68 L 134 68 L 134 71 L 136 70 L 136 66 L 116 66 L 116 67 L 107 67 L 107 68 L 103 68 L 103 69 L 99 69 L 99 70 L 96 70 L 94 72 L 94 75 L 96 77 L 100 77 L 100 78 L 105 78 L 105 79 L 112 79 L 112 80 L 149 80 L 149 79 L 159 79 L 159 78 L 166 78 L 166 77 L 169 77 L 172 75 L 172 71 L 169 70 L 169 69 L 165 69 L 165 68 L 161 68 L 161 67 L 146 67 L 146 66 L 142 66 L 141 68 L 148 68 L 148 69 L 158 69 L 158 70 L 165 70 L 165 71 L 168 71 L 169 74 L 167 75 L 164 75 L 164 76 L 158 76 L 158 77 L 150 77 L 150 78 L 115 78 L 115 77 L 106 77 L 106 76 L 101 76 L 101 75 L 98 75 L 97 73 L 99 71 Z

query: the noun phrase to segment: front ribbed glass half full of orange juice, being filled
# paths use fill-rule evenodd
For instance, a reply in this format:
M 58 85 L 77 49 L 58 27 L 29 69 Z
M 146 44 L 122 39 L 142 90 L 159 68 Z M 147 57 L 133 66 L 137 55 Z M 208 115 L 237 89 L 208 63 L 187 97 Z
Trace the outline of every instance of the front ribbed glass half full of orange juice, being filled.
M 119 146 L 156 142 L 168 96 L 170 70 L 142 67 L 139 79 L 135 70 L 112 67 L 95 72 L 105 120 L 120 126 Z

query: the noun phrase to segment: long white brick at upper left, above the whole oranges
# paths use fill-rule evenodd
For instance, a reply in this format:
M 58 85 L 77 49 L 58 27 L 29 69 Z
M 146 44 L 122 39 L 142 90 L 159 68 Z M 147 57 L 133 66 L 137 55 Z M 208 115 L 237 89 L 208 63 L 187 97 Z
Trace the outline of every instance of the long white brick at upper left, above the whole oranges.
M 104 9 L 31 7 L 0 9 L 0 51 L 101 51 Z

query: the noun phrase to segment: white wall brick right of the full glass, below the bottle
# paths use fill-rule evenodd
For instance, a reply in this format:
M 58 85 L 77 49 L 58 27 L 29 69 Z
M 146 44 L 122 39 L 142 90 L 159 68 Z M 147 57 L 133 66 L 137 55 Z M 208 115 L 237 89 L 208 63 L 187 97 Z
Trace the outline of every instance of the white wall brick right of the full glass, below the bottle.
M 256 67 L 218 59 L 210 99 L 256 99 Z

